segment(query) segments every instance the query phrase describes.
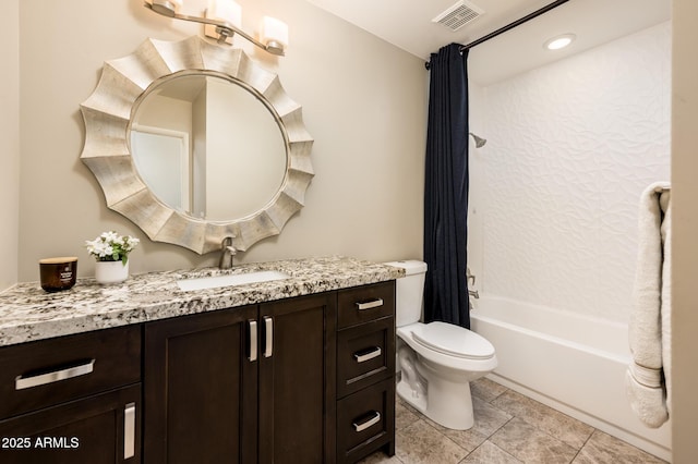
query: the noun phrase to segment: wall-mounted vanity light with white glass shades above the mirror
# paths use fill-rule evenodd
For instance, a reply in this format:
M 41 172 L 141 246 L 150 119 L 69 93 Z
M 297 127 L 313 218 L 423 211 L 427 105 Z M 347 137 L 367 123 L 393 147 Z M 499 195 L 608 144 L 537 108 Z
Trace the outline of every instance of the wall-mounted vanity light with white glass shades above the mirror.
M 274 17 L 264 16 L 260 27 L 260 40 L 241 28 L 242 9 L 234 0 L 208 0 L 206 17 L 181 14 L 183 0 L 146 0 L 144 7 L 176 20 L 204 24 L 206 35 L 214 37 L 218 44 L 230 44 L 236 34 L 250 40 L 272 54 L 282 57 L 288 46 L 288 25 Z

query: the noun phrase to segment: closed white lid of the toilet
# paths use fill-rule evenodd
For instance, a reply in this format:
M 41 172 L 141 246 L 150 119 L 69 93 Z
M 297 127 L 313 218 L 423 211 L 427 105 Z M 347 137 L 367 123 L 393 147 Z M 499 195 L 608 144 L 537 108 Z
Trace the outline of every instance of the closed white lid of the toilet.
M 431 322 L 422 330 L 412 332 L 412 338 L 434 351 L 468 359 L 489 359 L 494 356 L 494 346 L 483 337 L 464 327 L 446 322 Z

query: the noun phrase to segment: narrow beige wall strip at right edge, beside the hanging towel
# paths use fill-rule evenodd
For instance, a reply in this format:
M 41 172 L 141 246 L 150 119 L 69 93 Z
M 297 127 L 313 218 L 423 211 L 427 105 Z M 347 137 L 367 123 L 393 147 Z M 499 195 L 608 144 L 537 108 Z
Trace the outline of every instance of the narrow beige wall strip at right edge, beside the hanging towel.
M 672 85 L 672 414 L 673 462 L 698 456 L 698 2 L 673 1 Z

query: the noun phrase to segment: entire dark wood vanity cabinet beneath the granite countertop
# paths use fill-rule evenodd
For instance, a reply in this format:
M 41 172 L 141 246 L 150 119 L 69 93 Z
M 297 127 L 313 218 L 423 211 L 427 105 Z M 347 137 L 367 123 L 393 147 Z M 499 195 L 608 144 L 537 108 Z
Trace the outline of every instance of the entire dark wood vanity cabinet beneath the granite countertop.
M 395 453 L 395 282 L 0 349 L 0 463 Z

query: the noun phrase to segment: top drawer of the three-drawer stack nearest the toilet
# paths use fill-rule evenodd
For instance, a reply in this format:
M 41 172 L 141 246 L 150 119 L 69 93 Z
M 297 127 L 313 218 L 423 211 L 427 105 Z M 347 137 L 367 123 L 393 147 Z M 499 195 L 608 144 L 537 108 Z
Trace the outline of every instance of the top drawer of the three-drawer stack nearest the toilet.
M 339 291 L 338 328 L 395 315 L 395 281 Z

